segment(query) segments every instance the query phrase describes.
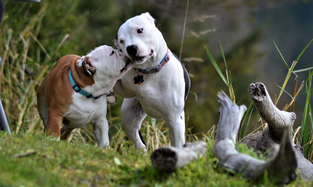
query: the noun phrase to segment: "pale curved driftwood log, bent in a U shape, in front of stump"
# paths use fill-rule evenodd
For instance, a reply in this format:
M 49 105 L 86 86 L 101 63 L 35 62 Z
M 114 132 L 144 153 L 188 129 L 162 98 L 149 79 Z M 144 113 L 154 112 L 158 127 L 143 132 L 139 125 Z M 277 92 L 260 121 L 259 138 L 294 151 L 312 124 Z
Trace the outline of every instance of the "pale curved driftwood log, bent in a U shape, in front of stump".
M 244 105 L 238 107 L 232 103 L 224 92 L 219 92 L 218 98 L 222 106 L 219 108 L 217 142 L 213 151 L 220 163 L 254 180 L 258 180 L 267 170 L 268 176 L 275 179 L 277 183 L 288 184 L 293 181 L 296 177 L 297 162 L 290 143 L 290 130 L 285 130 L 278 153 L 268 162 L 239 153 L 235 148 L 236 136 L 247 108 Z

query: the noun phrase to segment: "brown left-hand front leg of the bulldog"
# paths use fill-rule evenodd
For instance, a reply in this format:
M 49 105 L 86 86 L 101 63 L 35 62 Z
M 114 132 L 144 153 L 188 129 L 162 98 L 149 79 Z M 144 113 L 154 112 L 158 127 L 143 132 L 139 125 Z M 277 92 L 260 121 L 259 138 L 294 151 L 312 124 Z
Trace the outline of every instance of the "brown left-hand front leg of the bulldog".
M 62 116 L 58 110 L 53 110 L 49 108 L 48 111 L 48 124 L 47 124 L 47 135 L 54 135 L 60 137 Z

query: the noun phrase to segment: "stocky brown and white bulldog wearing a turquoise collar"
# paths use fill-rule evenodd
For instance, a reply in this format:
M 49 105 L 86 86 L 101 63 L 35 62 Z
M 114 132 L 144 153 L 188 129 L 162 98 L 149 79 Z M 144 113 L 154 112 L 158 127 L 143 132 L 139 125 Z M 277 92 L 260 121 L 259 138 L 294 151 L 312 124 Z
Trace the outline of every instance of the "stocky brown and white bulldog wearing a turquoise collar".
M 88 123 L 99 147 L 109 147 L 106 97 L 132 62 L 110 46 L 90 50 L 85 56 L 61 57 L 37 90 L 38 112 L 48 135 L 67 139 L 74 128 Z M 64 126 L 60 129 L 61 123 Z

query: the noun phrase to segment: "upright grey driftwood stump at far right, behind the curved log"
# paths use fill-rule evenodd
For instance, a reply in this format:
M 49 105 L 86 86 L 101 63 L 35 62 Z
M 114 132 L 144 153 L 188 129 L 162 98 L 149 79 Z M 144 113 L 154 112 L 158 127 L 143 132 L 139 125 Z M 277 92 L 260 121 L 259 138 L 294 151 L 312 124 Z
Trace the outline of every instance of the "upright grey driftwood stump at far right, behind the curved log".
M 285 128 L 292 129 L 296 115 L 293 112 L 281 111 L 275 107 L 264 84 L 250 84 L 249 93 L 260 116 L 268 123 L 261 132 L 251 134 L 240 143 L 253 147 L 254 151 L 268 151 L 266 155 L 273 157 L 280 148 L 280 142 Z M 297 168 L 302 179 L 313 180 L 313 164 L 303 155 L 303 149 L 295 145 L 290 136 L 291 145 L 297 158 Z

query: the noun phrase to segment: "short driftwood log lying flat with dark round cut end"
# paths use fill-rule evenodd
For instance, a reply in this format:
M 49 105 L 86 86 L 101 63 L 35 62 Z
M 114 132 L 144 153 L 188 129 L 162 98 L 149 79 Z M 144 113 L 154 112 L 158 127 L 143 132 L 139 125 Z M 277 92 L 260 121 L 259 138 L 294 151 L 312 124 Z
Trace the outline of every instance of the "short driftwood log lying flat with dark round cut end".
M 173 171 L 203 156 L 207 150 L 204 141 L 186 143 L 183 148 L 162 147 L 151 154 L 153 167 L 159 171 Z

